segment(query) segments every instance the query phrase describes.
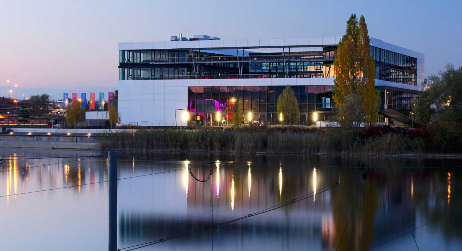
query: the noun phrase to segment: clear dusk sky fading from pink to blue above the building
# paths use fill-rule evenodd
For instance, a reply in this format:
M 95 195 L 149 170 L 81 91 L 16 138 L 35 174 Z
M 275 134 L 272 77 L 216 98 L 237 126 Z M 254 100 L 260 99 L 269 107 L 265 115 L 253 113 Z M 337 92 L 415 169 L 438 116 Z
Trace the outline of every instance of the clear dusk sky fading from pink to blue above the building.
M 365 16 L 371 37 L 424 53 L 428 76 L 446 63 L 462 65 L 461 11 L 456 0 L 3 0 L 0 96 L 6 80 L 20 97 L 113 91 L 119 42 L 202 32 L 221 39 L 342 36 L 351 13 Z

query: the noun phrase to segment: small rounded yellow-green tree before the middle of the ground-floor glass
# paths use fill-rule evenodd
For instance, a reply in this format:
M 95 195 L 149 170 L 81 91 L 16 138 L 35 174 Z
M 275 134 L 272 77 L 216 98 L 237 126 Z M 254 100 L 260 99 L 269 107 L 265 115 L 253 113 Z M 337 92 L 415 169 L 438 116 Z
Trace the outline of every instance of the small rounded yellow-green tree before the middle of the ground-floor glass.
M 292 87 L 286 86 L 284 91 L 278 97 L 278 103 L 276 105 L 278 110 L 278 118 L 282 113 L 282 125 L 295 125 L 300 122 L 300 110 L 298 109 L 297 98 Z

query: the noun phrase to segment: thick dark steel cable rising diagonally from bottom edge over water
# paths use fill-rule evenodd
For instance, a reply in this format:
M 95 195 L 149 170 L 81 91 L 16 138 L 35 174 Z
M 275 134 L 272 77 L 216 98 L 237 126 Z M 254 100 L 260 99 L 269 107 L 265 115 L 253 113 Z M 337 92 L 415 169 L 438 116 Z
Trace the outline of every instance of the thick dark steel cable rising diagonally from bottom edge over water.
M 360 176 L 361 175 L 358 175 L 358 176 L 355 176 L 355 177 L 353 177 L 351 179 L 348 179 L 348 180 L 345 180 L 345 181 L 342 181 L 342 182 L 336 182 L 335 184 L 328 185 L 328 186 L 316 191 L 316 194 L 320 194 L 320 193 L 323 193 L 325 191 L 331 190 L 334 187 L 340 186 L 340 184 L 344 184 L 346 182 L 355 180 L 355 179 L 359 178 Z M 131 250 L 144 248 L 144 247 L 147 247 L 147 246 L 151 246 L 151 245 L 155 245 L 155 244 L 158 244 L 158 243 L 161 243 L 161 242 L 165 242 L 167 240 L 176 239 L 176 238 L 180 238 L 182 236 L 188 235 L 188 234 L 197 233 L 197 232 L 200 232 L 200 231 L 203 231 L 203 230 L 207 230 L 207 228 L 212 228 L 212 230 L 213 230 L 214 227 L 219 227 L 219 226 L 231 223 L 231 222 L 235 222 L 235 221 L 238 221 L 238 220 L 243 220 L 243 219 L 246 219 L 246 218 L 250 218 L 250 217 L 255 216 L 255 215 L 264 214 L 264 213 L 276 210 L 278 208 L 286 207 L 286 206 L 291 205 L 291 204 L 293 204 L 295 202 L 302 201 L 302 200 L 310 198 L 312 196 L 314 196 L 314 192 L 305 194 L 303 196 L 299 196 L 297 198 L 294 198 L 294 199 L 292 199 L 290 201 L 287 201 L 287 202 L 284 202 L 284 203 L 281 203 L 281 204 L 278 204 L 278 205 L 274 205 L 273 207 L 260 210 L 258 212 L 253 213 L 253 214 L 247 214 L 245 216 L 236 218 L 234 220 L 228 220 L 228 221 L 225 221 L 225 222 L 222 222 L 222 223 L 219 223 L 219 224 L 211 225 L 211 226 L 208 226 L 208 227 L 203 227 L 203 228 L 196 229 L 196 230 L 188 232 L 188 233 L 182 233 L 180 235 L 172 236 L 172 237 L 165 238 L 165 239 L 158 239 L 158 240 L 154 240 L 154 241 L 150 241 L 150 242 L 146 242 L 146 243 L 142 243 L 142 244 L 138 244 L 138 245 L 132 245 L 132 246 L 120 248 L 120 249 L 117 249 L 117 251 L 131 251 Z

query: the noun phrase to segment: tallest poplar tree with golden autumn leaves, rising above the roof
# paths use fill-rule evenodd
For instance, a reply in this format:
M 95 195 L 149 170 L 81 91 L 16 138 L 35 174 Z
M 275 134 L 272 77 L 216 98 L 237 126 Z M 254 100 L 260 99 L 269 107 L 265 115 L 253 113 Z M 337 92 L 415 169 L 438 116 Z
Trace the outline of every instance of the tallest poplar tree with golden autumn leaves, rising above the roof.
M 358 19 L 352 14 L 346 22 L 346 33 L 339 42 L 334 55 L 334 95 L 338 108 L 339 122 L 342 126 L 351 122 L 374 124 L 377 121 L 379 92 L 375 89 L 375 63 L 369 47 L 369 35 L 364 16 Z M 362 104 L 357 104 L 359 100 Z M 350 104 L 353 101 L 355 104 Z M 354 107 L 354 118 L 351 112 L 342 111 Z M 360 119 L 360 121 L 355 121 Z

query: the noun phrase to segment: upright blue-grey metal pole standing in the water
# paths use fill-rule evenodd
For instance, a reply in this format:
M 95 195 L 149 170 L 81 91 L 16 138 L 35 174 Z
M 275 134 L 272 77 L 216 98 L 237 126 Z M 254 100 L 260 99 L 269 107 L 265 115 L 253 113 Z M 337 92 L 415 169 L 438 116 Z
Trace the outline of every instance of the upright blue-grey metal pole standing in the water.
M 117 250 L 117 152 L 109 152 L 109 245 Z

